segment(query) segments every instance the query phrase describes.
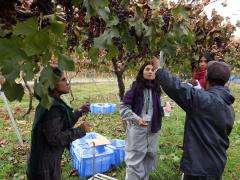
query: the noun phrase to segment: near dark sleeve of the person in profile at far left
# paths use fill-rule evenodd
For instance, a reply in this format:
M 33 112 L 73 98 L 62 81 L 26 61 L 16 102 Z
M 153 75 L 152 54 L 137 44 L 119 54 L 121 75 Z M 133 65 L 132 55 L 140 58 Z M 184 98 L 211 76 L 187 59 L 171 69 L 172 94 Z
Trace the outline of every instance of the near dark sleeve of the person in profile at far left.
M 86 132 L 81 128 L 63 130 L 64 121 L 62 111 L 58 108 L 51 108 L 45 116 L 41 128 L 47 142 L 52 146 L 66 146 L 75 139 L 86 135 Z

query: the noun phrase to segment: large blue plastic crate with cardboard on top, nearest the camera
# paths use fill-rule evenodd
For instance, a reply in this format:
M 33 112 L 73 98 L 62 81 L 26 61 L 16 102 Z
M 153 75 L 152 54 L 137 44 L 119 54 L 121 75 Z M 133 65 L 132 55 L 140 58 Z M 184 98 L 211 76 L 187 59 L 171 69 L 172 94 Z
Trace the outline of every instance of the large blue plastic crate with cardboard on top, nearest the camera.
M 93 175 L 93 154 L 94 149 L 91 146 L 92 139 L 105 138 L 101 134 L 91 132 L 83 138 L 77 139 L 71 143 L 70 154 L 73 157 L 73 167 L 78 170 L 81 178 Z M 114 158 L 114 150 L 106 145 L 95 147 L 95 174 L 103 173 L 111 169 Z

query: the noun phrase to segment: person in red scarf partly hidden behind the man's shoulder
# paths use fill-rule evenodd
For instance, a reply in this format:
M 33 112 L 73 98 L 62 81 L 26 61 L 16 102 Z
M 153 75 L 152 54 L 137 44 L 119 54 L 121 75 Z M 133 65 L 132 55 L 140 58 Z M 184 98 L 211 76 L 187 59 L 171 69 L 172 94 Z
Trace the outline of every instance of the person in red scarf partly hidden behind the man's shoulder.
M 194 70 L 192 79 L 198 80 L 201 88 L 206 88 L 205 76 L 207 71 L 207 64 L 210 61 L 213 61 L 214 57 L 211 53 L 204 53 L 201 58 L 198 60 L 198 67 Z

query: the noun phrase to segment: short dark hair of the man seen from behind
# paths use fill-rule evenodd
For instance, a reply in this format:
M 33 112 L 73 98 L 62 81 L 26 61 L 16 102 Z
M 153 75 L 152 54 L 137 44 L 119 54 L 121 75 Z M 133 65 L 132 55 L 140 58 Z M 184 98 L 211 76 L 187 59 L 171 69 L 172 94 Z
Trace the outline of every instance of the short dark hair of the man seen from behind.
M 208 63 L 207 79 L 211 84 L 224 86 L 231 75 L 230 67 L 225 62 Z

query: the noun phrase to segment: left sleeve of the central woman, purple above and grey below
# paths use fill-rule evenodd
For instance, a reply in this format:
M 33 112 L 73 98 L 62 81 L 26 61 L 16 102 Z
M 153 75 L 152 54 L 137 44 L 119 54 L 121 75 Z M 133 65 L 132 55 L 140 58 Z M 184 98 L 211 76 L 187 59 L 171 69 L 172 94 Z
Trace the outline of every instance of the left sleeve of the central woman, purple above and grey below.
M 134 91 L 128 90 L 123 97 L 123 101 L 120 103 L 120 116 L 122 120 L 140 120 L 142 119 L 136 113 L 132 111 L 132 102 L 134 99 Z

